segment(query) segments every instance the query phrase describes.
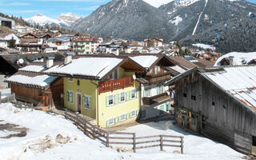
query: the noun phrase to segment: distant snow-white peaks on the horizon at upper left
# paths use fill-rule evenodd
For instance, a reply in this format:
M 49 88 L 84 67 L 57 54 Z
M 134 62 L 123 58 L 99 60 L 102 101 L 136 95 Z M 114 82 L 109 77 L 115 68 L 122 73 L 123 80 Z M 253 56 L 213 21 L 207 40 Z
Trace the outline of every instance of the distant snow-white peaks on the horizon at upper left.
M 78 20 L 79 16 L 76 14 L 61 14 L 58 19 L 49 18 L 44 14 L 36 14 L 32 18 L 26 18 L 26 22 L 30 22 L 32 25 L 39 26 L 62 26 L 68 28 L 74 21 Z

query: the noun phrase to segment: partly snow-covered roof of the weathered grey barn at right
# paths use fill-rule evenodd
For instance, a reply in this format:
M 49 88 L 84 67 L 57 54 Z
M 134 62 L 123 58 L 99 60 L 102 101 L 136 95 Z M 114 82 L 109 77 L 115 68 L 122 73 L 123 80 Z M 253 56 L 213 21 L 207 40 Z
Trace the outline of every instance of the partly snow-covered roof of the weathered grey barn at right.
M 256 66 L 230 66 L 200 74 L 256 112 Z

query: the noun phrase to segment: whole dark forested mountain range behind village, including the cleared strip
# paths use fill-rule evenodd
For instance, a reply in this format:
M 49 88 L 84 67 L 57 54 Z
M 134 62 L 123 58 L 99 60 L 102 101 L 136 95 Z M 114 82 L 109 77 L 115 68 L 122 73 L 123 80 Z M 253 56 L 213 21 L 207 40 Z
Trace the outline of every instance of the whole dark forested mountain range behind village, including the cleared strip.
M 157 2 L 161 4 L 164 0 Z M 113 0 L 100 6 L 90 16 L 75 21 L 71 29 L 134 40 L 157 37 L 166 42 L 206 42 L 224 53 L 238 48 L 241 51 L 254 50 L 256 40 L 248 34 L 255 33 L 254 3 L 234 0 L 169 0 L 169 3 L 160 7 L 155 4 L 153 0 Z M 250 43 L 242 45 L 242 40 Z M 237 46 L 230 44 L 234 41 Z

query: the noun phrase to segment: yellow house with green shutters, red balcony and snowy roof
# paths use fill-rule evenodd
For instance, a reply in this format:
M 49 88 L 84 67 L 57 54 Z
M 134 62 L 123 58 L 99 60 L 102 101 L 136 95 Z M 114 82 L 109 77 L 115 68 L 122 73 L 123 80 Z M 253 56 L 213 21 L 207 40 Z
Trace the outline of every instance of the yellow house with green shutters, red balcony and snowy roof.
M 100 127 L 135 120 L 140 110 L 140 84 L 135 73 L 145 69 L 130 58 L 74 57 L 48 70 L 64 79 L 64 106 L 96 120 Z

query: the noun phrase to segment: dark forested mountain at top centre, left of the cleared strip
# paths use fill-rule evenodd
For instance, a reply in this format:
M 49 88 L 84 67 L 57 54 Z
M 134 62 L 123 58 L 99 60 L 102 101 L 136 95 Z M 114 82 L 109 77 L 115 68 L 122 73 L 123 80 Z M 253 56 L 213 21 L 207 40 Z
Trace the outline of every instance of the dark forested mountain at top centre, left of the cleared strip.
M 139 40 L 151 37 L 168 39 L 173 33 L 166 24 L 166 15 L 142 0 L 109 2 L 90 16 L 78 19 L 71 30 Z

